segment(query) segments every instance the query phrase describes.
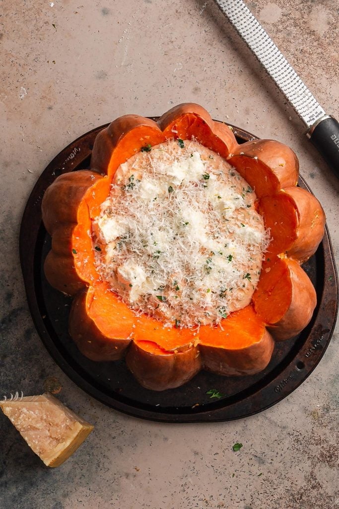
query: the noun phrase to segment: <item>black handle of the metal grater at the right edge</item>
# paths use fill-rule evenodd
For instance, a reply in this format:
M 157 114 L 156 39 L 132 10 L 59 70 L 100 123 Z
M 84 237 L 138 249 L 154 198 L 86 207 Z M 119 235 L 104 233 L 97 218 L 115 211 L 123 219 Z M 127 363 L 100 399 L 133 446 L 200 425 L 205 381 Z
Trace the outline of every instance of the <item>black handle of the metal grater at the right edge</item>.
M 334 174 L 339 177 L 339 122 L 333 117 L 320 119 L 307 132 L 307 137 L 310 138 Z

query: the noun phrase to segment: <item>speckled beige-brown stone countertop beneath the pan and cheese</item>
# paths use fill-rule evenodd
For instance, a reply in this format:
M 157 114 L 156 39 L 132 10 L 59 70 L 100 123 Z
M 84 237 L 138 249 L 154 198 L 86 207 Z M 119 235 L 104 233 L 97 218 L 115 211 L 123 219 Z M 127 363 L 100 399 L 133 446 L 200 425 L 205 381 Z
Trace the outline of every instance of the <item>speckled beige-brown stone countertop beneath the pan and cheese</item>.
M 339 118 L 338 1 L 248 5 Z M 292 147 L 338 256 L 337 180 L 219 9 L 211 0 L 4 0 L 0 47 L 0 394 L 41 393 L 55 378 L 60 400 L 95 425 L 70 460 L 47 469 L 0 415 L 0 507 L 338 508 L 337 329 L 316 370 L 278 405 L 233 422 L 170 425 L 90 398 L 53 362 L 27 308 L 18 233 L 47 163 L 117 116 L 161 115 L 184 101 Z

